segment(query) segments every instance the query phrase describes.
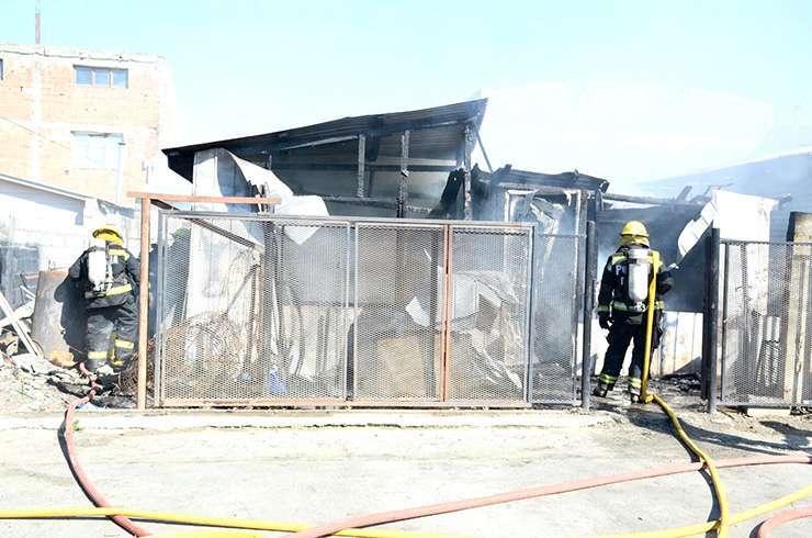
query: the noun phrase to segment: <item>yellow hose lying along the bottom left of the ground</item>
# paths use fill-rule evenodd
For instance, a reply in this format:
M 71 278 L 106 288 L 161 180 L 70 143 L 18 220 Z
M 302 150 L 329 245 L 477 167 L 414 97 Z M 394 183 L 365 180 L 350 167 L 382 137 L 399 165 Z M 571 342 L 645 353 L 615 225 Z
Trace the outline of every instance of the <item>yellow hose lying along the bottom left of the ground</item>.
M 250 530 L 275 530 L 279 533 L 297 533 L 313 525 L 286 522 L 266 522 L 260 519 L 240 519 L 235 517 L 206 517 L 191 514 L 173 514 L 129 508 L 52 508 L 52 509 L 0 509 L 0 519 L 46 519 L 69 517 L 106 517 L 127 516 L 159 523 L 180 525 L 199 525 L 202 527 L 223 527 Z M 237 534 L 237 536 L 240 536 Z M 354 536 L 358 538 L 461 538 L 460 535 L 440 535 L 436 533 L 413 533 L 385 529 L 347 529 L 335 536 Z

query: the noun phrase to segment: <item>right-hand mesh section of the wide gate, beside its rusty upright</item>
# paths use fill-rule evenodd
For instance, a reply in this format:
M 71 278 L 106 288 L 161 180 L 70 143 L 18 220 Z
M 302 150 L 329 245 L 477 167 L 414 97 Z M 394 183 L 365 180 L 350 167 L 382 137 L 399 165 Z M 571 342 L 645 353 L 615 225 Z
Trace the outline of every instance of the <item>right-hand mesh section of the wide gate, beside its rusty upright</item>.
M 450 401 L 527 397 L 530 231 L 451 227 Z

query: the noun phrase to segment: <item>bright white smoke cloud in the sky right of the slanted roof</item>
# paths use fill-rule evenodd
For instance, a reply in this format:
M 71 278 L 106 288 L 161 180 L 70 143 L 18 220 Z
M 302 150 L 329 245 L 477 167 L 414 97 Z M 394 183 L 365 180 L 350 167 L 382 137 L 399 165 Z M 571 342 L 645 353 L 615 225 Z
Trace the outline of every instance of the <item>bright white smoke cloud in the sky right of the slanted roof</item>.
M 751 157 L 775 123 L 769 102 L 657 85 L 539 83 L 482 93 L 488 111 L 481 133 L 493 162 L 578 169 L 621 192 Z

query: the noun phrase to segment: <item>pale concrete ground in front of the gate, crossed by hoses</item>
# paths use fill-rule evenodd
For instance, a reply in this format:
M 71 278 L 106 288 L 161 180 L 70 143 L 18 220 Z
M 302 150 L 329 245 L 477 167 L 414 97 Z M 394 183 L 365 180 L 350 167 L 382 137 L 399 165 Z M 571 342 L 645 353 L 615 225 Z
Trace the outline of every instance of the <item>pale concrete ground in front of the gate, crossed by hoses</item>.
M 656 406 L 630 407 L 616 399 L 599 407 L 590 414 L 86 412 L 76 438 L 89 474 L 120 506 L 312 524 L 689 459 Z M 690 404 L 681 414 L 688 433 L 717 458 L 812 452 L 809 415 L 710 418 Z M 59 422 L 58 414 L 0 416 L 0 508 L 87 505 L 57 442 Z M 738 512 L 809 485 L 812 466 L 730 469 L 722 478 Z M 712 504 L 706 480 L 691 473 L 390 527 L 478 537 L 588 536 L 699 523 L 715 514 Z M 737 526 L 732 536 L 751 536 L 756 523 Z M 125 536 L 104 520 L 0 522 L 0 534 Z M 812 536 L 812 520 L 776 536 Z

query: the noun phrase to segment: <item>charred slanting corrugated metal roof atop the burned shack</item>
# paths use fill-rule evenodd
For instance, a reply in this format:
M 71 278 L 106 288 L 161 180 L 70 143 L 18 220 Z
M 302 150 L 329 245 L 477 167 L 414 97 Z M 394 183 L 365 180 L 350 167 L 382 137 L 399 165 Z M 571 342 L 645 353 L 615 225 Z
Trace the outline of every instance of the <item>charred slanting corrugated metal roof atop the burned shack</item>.
M 486 105 L 486 99 L 478 99 L 431 109 L 343 117 L 273 133 L 171 147 L 163 153 L 169 158 L 169 167 L 189 180 L 194 154 L 204 149 L 222 147 L 239 157 L 256 159 L 271 152 L 303 148 L 319 142 L 341 143 L 360 134 L 384 138 L 404 130 L 413 131 L 409 157 L 453 156 L 463 136 L 463 125 L 474 123 L 478 127 Z

